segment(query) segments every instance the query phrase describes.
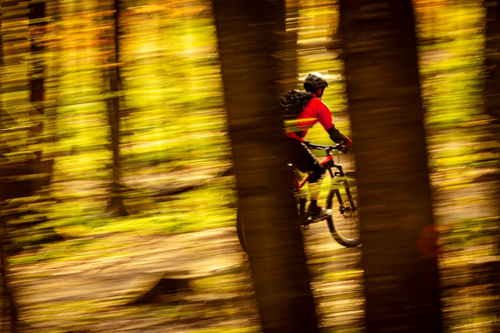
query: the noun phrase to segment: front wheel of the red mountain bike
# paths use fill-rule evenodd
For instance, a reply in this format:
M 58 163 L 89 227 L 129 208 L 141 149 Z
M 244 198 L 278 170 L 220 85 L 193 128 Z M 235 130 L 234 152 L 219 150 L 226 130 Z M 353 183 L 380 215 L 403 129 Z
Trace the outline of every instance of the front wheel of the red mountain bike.
M 348 188 L 348 187 L 347 187 Z M 333 198 L 335 197 L 334 190 L 330 190 L 326 197 L 326 208 L 332 209 Z M 348 195 L 349 200 L 344 201 L 344 204 L 352 202 L 357 206 L 357 203 Z M 332 215 L 335 214 L 334 212 Z M 359 214 L 357 210 L 355 212 L 350 212 L 349 214 L 342 214 L 338 219 L 334 220 L 333 216 L 330 216 L 326 220 L 328 225 L 328 230 L 330 231 L 333 239 L 340 245 L 347 248 L 353 248 L 361 244 L 361 237 L 359 231 Z

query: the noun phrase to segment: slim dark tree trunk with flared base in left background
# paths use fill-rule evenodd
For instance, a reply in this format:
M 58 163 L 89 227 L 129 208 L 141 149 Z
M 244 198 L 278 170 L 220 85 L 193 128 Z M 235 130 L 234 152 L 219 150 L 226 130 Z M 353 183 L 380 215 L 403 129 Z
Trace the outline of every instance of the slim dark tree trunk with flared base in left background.
M 111 130 L 111 151 L 112 151 L 112 174 L 109 203 L 106 207 L 106 213 L 115 216 L 125 216 L 128 212 L 123 204 L 123 191 L 120 161 L 120 96 L 121 77 L 119 72 L 119 38 L 118 38 L 118 17 L 120 9 L 120 0 L 113 1 L 114 10 L 114 49 L 109 63 L 103 66 L 103 77 L 109 86 L 109 92 L 114 96 L 107 99 L 108 123 Z M 104 82 L 106 83 L 106 82 Z

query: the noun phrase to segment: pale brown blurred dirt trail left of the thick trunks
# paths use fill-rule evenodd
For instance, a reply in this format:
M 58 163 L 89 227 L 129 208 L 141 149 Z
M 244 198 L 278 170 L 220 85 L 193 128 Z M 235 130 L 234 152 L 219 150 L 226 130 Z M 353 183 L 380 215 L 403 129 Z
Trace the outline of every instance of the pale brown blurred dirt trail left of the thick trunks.
M 232 234 L 232 228 L 224 228 L 178 235 L 110 235 L 108 242 L 116 246 L 95 256 L 87 253 L 84 259 L 23 267 L 23 275 L 44 277 L 19 282 L 17 299 L 21 305 L 34 305 L 122 295 L 127 302 L 163 275 L 182 279 L 241 265 Z

